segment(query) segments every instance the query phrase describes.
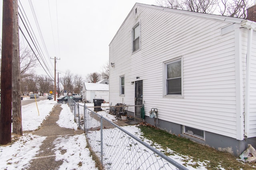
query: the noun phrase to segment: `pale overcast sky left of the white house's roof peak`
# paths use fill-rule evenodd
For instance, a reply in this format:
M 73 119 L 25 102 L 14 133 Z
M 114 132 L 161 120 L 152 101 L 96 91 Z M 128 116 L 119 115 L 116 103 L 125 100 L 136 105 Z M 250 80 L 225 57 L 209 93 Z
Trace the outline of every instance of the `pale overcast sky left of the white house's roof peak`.
M 0 19 L 2 30 L 2 0 Z M 56 69 L 64 75 L 67 70 L 85 78 L 100 72 L 108 62 L 108 45 L 136 2 L 156 4 L 156 0 L 33 0 L 32 5 L 40 26 L 47 52 L 38 34 L 30 8 L 31 0 L 20 0 L 54 75 Z M 20 3 L 19 3 L 20 4 Z M 21 6 L 20 6 L 21 8 Z M 21 21 L 19 20 L 22 27 Z M 23 27 L 25 31 L 25 28 Z M 2 31 L 1 31 L 2 32 Z M 0 35 L 2 39 L 2 34 Z M 20 33 L 21 43 L 26 40 Z M 37 74 L 46 74 L 35 68 Z

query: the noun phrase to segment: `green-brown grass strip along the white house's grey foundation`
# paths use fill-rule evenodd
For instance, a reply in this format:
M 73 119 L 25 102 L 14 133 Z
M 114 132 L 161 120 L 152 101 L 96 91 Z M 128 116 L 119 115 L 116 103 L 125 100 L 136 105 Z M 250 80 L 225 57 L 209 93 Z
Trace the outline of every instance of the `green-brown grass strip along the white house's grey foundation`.
M 154 127 L 140 125 L 138 126 L 143 132 L 143 136 L 151 141 L 158 143 L 163 149 L 171 149 L 174 154 L 180 156 L 184 155 L 184 162 L 188 164 L 187 160 L 193 160 L 194 163 L 189 164 L 194 168 L 198 167 L 198 162 L 204 162 L 208 170 L 216 170 L 220 168 L 232 170 L 252 170 L 256 169 L 254 163 L 244 163 L 236 160 L 238 157 L 233 156 L 227 152 L 221 152 L 214 148 L 201 145 L 186 139 L 172 135 L 167 131 L 156 129 Z M 165 152 L 166 155 L 172 153 Z M 186 157 L 187 156 L 187 157 Z

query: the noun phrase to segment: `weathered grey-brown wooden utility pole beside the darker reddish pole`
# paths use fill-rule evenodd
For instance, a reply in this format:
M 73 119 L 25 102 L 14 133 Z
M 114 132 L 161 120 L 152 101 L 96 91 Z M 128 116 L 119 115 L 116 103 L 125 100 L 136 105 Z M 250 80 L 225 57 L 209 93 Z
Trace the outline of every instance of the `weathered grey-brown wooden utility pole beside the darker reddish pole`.
M 18 0 L 14 0 L 13 18 L 14 18 L 14 22 L 13 22 L 13 58 L 12 58 L 12 132 L 18 135 L 22 135 Z

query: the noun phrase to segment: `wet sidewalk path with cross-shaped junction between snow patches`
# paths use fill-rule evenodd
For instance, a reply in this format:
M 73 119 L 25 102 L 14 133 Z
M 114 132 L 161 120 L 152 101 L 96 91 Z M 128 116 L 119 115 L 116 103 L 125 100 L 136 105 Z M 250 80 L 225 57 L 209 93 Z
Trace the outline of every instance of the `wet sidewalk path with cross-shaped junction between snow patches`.
M 58 167 L 62 165 L 63 161 L 55 161 L 53 145 L 54 140 L 57 137 L 66 136 L 66 135 L 79 135 L 84 131 L 82 130 L 73 130 L 64 127 L 59 127 L 56 123 L 59 119 L 60 111 L 62 110 L 60 104 L 56 104 L 50 113 L 50 116 L 42 123 L 42 126 L 39 130 L 34 131 L 33 134 L 45 136 L 46 139 L 40 146 L 39 154 L 35 156 L 30 162 L 30 167 L 28 170 L 58 170 Z M 61 150 L 65 153 L 66 150 Z

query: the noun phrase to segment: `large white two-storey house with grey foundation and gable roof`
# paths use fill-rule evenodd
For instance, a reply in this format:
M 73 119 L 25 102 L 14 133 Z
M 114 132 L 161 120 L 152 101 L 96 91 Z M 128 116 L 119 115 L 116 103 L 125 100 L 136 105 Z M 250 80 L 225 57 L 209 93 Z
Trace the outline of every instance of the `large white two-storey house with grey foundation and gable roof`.
M 235 155 L 256 148 L 255 22 L 136 3 L 109 62 L 113 105 L 144 104 L 146 122 Z

